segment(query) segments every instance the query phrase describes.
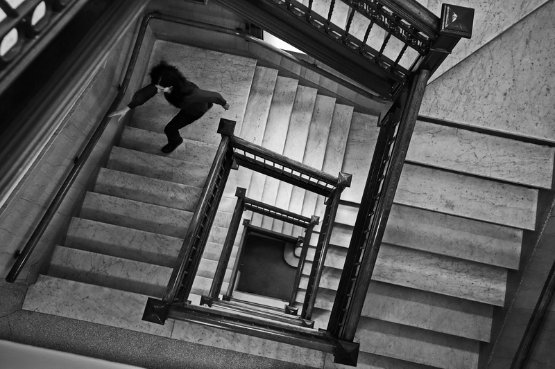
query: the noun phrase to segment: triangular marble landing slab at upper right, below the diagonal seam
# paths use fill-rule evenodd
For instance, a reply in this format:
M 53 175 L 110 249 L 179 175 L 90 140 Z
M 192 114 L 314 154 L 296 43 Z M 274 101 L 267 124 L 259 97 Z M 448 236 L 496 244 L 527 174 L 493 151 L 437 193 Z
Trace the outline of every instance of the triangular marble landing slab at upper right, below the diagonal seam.
M 554 17 L 549 1 L 430 83 L 420 114 L 555 141 Z

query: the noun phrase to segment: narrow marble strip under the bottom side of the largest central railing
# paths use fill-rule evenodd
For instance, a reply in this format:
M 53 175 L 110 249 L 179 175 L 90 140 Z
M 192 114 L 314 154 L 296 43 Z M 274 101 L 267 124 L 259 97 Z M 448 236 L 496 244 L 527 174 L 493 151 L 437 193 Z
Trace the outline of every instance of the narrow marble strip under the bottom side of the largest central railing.
M 184 321 L 174 323 L 171 338 L 316 368 L 321 368 L 324 361 L 324 353 L 320 351 Z

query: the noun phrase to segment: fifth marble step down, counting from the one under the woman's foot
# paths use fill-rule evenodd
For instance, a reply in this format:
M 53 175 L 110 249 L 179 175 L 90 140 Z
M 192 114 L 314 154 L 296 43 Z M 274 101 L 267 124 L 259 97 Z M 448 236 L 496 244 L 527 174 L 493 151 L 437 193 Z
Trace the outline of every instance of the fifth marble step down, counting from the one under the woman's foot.
M 114 226 L 74 217 L 65 246 L 117 258 L 175 267 L 183 240 L 177 237 Z

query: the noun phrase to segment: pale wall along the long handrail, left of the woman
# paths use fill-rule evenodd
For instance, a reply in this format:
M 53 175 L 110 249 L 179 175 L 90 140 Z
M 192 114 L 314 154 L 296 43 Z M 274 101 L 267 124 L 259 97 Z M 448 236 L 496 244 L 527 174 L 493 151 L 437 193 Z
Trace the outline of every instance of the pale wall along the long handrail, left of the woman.
M 144 6 L 142 3 L 137 2 L 133 8 L 124 10 L 130 15 L 127 19 L 142 15 L 142 6 Z M 124 18 L 123 14 L 121 15 Z M 107 35 L 105 45 L 111 50 L 107 49 L 104 55 L 96 51 L 97 54 L 94 57 L 97 59 L 91 64 L 95 69 L 88 79 L 88 84 L 83 85 L 74 106 L 68 107 L 69 111 L 60 117 L 62 122 L 58 129 L 53 132 L 25 177 L 0 209 L 0 240 L 3 241 L 0 249 L 1 278 L 5 278 L 10 271 L 15 251 L 21 250 L 31 237 L 36 224 L 40 222 L 58 188 L 71 171 L 74 158 L 80 155 L 96 125 L 117 95 L 117 86 L 126 70 L 128 51 L 135 42 L 134 36 L 137 33 L 135 25 L 135 21 L 127 21 L 121 24 L 112 36 Z M 150 54 L 149 48 L 153 37 L 152 33 L 147 35 L 147 39 L 151 41 L 147 42 L 146 47 L 142 49 L 139 60 L 146 60 L 146 55 Z M 135 89 L 139 80 L 137 76 L 140 75 L 142 78 L 144 73 L 144 66 L 140 62 L 137 72 L 135 78 L 131 80 L 130 90 Z M 60 234 L 64 234 L 59 230 L 69 224 L 75 204 L 80 204 L 80 199 L 83 199 L 87 190 L 89 178 L 98 172 L 99 166 L 105 161 L 106 152 L 113 144 L 115 134 L 124 123 L 125 120 L 110 121 L 101 140 L 46 228 L 26 267 L 19 275 L 19 280 L 29 278 L 32 281 L 36 278 L 44 261 L 44 255 L 51 253 L 54 244 L 60 240 Z M 33 272 L 29 274 L 30 271 Z

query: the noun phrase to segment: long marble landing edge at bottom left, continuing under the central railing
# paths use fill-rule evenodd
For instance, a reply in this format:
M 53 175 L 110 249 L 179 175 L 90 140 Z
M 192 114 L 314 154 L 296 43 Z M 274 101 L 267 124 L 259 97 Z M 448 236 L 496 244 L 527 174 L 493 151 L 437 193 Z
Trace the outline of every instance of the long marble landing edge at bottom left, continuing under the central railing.
M 40 275 L 37 282 L 29 287 L 22 309 L 283 361 L 309 363 L 310 360 L 316 362 L 319 359 L 323 363 L 323 355 L 320 352 L 275 341 L 254 339 L 244 334 L 232 334 L 204 325 L 189 325 L 173 319 L 168 319 L 164 325 L 148 323 L 142 320 L 148 297 L 144 294 Z

